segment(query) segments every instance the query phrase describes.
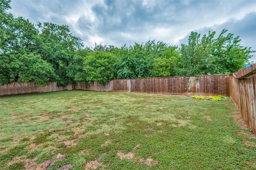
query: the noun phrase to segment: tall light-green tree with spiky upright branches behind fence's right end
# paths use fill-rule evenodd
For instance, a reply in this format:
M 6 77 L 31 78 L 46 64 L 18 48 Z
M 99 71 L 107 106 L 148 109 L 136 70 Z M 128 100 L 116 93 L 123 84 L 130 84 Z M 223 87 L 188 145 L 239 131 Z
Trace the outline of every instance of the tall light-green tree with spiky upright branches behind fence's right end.
M 201 39 L 199 33 L 191 32 L 188 45 L 182 44 L 180 49 L 181 74 L 223 74 L 242 69 L 254 51 L 241 46 L 239 36 L 234 37 L 232 33 L 225 36 L 226 32 L 223 29 L 218 38 L 214 38 L 216 32 L 209 31 Z

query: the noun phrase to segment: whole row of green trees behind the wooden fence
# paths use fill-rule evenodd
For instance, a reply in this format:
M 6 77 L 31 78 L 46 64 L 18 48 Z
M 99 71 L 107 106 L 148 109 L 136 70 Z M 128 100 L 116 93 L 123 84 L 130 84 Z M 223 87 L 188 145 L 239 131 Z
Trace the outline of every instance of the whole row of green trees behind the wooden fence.
M 33 24 L 15 18 L 0 0 L 0 83 L 13 81 L 59 85 L 78 81 L 105 83 L 115 78 L 223 74 L 244 67 L 254 52 L 223 29 L 220 35 L 191 32 L 188 44 L 170 46 L 149 40 L 118 48 L 95 44 L 84 47 L 67 25 Z

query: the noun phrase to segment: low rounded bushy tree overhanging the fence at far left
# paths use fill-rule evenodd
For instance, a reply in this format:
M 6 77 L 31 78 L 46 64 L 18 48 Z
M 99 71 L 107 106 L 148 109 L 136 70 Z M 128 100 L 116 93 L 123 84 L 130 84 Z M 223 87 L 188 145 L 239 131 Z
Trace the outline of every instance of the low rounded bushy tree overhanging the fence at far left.
M 7 61 L 1 60 L 1 69 L 5 69 L 5 72 L 0 70 L 0 81 L 2 84 L 12 81 L 31 81 L 37 85 L 45 85 L 55 77 L 52 65 L 42 60 L 38 54 L 9 54 L 5 58 Z

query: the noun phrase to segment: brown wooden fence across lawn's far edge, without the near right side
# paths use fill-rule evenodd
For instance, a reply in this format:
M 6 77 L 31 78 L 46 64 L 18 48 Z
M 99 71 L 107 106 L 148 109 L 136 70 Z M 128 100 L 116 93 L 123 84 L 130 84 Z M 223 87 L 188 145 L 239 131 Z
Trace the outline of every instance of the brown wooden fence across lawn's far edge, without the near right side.
M 35 86 L 34 83 L 14 82 L 0 86 L 0 96 L 29 94 L 35 92 L 61 90 L 93 90 L 144 92 L 173 95 L 226 95 L 229 96 L 230 75 L 198 75 L 191 77 L 164 77 L 143 79 L 115 79 L 106 84 L 75 83 L 57 86 L 52 82 L 47 86 Z

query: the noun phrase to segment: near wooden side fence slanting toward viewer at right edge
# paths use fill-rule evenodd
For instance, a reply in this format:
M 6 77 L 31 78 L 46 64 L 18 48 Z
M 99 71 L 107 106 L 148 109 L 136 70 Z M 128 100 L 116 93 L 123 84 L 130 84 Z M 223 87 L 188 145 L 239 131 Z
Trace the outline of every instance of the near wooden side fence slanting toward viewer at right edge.
M 243 120 L 256 133 L 256 64 L 233 73 L 230 77 L 230 98 Z

